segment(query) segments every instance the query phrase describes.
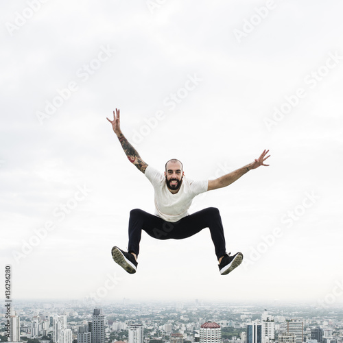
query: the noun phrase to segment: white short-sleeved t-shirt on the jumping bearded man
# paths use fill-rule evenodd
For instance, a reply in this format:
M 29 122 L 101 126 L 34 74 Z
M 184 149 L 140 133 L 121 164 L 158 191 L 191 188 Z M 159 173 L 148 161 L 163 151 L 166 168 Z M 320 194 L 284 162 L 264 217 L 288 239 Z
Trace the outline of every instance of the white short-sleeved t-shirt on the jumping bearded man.
M 208 180 L 193 181 L 182 178 L 182 184 L 178 193 L 171 193 L 165 182 L 165 175 L 150 165 L 145 169 L 144 175 L 154 186 L 155 191 L 155 215 L 167 222 L 178 222 L 188 215 L 188 209 L 195 196 L 207 191 Z

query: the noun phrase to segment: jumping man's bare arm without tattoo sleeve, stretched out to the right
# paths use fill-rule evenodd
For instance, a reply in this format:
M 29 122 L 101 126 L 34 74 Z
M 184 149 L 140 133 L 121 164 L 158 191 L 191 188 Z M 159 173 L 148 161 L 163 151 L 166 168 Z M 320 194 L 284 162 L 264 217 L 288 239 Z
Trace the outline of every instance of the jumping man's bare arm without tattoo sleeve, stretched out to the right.
M 255 158 L 255 161 L 252 163 L 249 163 L 248 165 L 245 165 L 244 167 L 241 167 L 235 171 L 232 171 L 229 174 L 226 174 L 224 176 L 221 176 L 220 178 L 216 178 L 215 180 L 209 180 L 209 185 L 207 190 L 211 191 L 213 189 L 222 188 L 230 185 L 231 183 L 238 180 L 241 176 L 246 174 L 251 169 L 256 169 L 260 165 L 264 165 L 267 167 L 268 165 L 265 165 L 263 162 L 270 156 L 264 157 L 266 154 L 268 154 L 269 150 L 263 151 L 261 156 L 259 158 Z

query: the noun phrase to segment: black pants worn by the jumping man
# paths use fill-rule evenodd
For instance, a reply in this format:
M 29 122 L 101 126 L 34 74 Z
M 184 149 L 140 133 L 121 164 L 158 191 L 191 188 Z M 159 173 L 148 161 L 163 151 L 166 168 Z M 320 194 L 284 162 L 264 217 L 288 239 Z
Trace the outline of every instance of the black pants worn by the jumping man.
M 226 249 L 222 218 L 217 208 L 208 207 L 174 223 L 141 209 L 133 209 L 130 211 L 128 252 L 138 256 L 142 230 L 156 239 L 183 239 L 195 235 L 203 228 L 210 229 L 215 255 L 219 259 L 226 253 Z

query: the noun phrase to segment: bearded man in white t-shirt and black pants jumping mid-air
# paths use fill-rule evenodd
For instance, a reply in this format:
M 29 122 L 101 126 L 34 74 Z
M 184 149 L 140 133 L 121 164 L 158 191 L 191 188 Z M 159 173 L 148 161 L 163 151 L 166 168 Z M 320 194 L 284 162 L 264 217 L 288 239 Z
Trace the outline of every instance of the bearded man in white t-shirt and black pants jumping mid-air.
M 141 209 L 130 211 L 128 252 L 114 246 L 112 257 L 115 262 L 130 274 L 136 272 L 142 230 L 156 239 L 183 239 L 195 235 L 203 228 L 209 228 L 220 274 L 225 275 L 232 272 L 241 264 L 243 255 L 241 252 L 237 252 L 233 256 L 230 256 L 230 253 L 226 254 L 224 228 L 219 210 L 209 207 L 189 215 L 188 209 L 193 198 L 198 194 L 226 187 L 249 170 L 256 169 L 260 165 L 268 166 L 263 162 L 270 156 L 265 157 L 269 150 L 264 150 L 254 162 L 215 180 L 189 180 L 182 170 L 182 163 L 176 159 L 167 161 L 163 176 L 160 171 L 147 165 L 137 150 L 124 137 L 120 130 L 119 114 L 119 110 L 116 109 L 116 113 L 113 111 L 113 120 L 108 118 L 107 120 L 112 124 L 113 131 L 117 134 L 129 161 L 152 183 L 155 195 L 155 215 Z

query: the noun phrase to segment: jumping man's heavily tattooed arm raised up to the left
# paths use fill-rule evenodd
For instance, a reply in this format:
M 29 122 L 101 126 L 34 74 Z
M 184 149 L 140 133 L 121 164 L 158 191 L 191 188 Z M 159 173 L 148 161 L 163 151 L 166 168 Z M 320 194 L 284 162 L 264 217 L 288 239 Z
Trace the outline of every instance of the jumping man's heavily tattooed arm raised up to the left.
M 145 173 L 145 169 L 147 168 L 147 164 L 141 159 L 139 153 L 137 152 L 134 147 L 128 142 L 128 140 L 124 137 L 123 133 L 120 130 L 120 111 L 115 109 L 117 113 L 117 117 L 115 111 L 113 111 L 113 120 L 106 118 L 111 124 L 113 131 L 117 134 L 119 142 L 121 143 L 121 147 L 123 148 L 126 156 L 131 163 L 133 163 L 142 173 Z

